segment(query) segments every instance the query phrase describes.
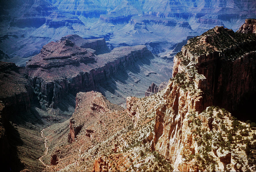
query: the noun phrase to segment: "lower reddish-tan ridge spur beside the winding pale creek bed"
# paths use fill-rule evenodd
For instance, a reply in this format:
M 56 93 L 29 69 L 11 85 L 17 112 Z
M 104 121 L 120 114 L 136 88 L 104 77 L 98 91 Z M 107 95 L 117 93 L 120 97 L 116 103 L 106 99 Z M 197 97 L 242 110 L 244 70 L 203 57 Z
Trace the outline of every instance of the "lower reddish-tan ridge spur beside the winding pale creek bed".
M 65 141 L 60 145 L 58 139 L 50 136 L 51 148 L 46 162 L 51 166 L 47 170 L 60 170 L 67 167 L 72 170 L 91 171 L 94 156 L 101 149 L 117 151 L 118 143 L 115 143 L 113 134 L 120 133 L 123 128 L 132 124 L 131 119 L 126 115 L 123 108 L 110 103 L 101 93 L 95 91 L 77 93 L 76 108 L 69 120 L 68 134 L 63 136 L 61 132 L 55 132 L 59 133 L 60 140 L 65 137 L 63 139 Z M 66 122 L 64 123 L 66 124 Z M 66 127 L 65 125 L 60 129 L 65 130 Z M 51 133 L 53 130 L 56 130 L 55 126 L 47 128 L 46 132 Z M 106 140 L 109 141 L 106 142 Z M 100 146 L 98 147 L 98 145 Z M 49 162 L 49 160 L 51 161 Z M 80 167 L 71 165 L 74 161 L 79 162 Z

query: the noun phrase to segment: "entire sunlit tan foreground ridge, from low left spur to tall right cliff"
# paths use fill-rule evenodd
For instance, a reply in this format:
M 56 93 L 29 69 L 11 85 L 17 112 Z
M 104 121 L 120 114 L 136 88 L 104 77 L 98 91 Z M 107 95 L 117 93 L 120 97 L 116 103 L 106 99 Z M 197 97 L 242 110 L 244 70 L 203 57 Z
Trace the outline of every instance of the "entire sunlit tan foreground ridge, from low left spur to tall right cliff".
M 239 111 L 255 94 L 255 41 L 218 26 L 189 39 L 166 88 L 152 83 L 154 94 L 127 97 L 126 109 L 77 93 L 72 117 L 44 130 L 46 170 L 255 171 L 253 106 Z

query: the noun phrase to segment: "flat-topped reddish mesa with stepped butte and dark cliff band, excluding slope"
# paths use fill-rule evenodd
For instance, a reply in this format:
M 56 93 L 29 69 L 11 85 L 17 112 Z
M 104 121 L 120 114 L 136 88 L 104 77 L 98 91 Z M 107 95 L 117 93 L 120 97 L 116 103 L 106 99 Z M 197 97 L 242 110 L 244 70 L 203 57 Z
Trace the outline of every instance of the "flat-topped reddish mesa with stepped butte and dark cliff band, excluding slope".
M 86 46 L 87 41 L 81 41 L 82 38 L 68 37 L 80 46 Z M 96 89 L 99 83 L 134 64 L 137 59 L 153 56 L 144 45 L 119 47 L 110 53 L 95 55 L 94 50 L 63 39 L 46 44 L 40 54 L 32 57 L 26 65 L 26 73 L 43 108 L 54 108 L 68 93 Z M 90 46 L 99 50 L 99 42 L 105 43 L 104 40 L 96 40 L 92 41 L 96 46 Z

